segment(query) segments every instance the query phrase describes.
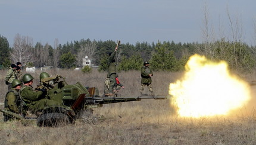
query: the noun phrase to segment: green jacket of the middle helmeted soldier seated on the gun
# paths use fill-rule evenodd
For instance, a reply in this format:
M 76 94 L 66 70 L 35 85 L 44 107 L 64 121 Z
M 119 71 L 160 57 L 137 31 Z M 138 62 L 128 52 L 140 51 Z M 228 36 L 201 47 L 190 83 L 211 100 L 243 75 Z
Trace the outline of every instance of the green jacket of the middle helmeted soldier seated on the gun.
M 34 105 L 36 101 L 42 98 L 42 91 L 34 91 L 32 86 L 23 85 L 20 89 L 20 98 L 24 101 L 27 107 Z

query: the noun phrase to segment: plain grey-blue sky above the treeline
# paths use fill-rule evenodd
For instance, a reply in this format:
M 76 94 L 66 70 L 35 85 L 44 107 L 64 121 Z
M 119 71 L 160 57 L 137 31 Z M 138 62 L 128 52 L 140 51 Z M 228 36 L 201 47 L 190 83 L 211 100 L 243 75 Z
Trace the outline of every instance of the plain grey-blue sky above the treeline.
M 255 0 L 1 0 L 0 35 L 13 47 L 17 34 L 54 45 L 81 39 L 121 43 L 202 42 L 204 8 L 214 37 L 231 37 L 232 21 L 242 25 L 243 41 L 254 40 Z M 227 12 L 228 11 L 228 12 Z

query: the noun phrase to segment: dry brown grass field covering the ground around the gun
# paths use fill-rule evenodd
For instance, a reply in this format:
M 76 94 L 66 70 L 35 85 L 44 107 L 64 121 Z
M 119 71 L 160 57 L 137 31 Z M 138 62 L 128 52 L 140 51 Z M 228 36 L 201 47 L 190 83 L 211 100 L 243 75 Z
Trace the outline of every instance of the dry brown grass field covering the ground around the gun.
M 7 85 L 5 71 L 1 70 L 1 98 L 4 101 Z M 32 74 L 38 82 L 40 72 Z M 63 75 L 67 82 L 77 81 L 85 86 L 96 86 L 102 94 L 105 73 L 93 71 L 51 70 L 50 75 Z M 167 95 L 168 85 L 181 73 L 155 72 L 155 94 Z M 246 78 L 254 79 L 254 76 Z M 125 89 L 121 95 L 139 95 L 139 72 L 119 73 Z M 255 86 L 256 88 L 256 86 Z M 148 89 L 146 89 L 148 91 Z M 252 88 L 252 93 L 255 93 Z M 177 117 L 169 100 L 143 100 L 107 104 L 95 108 L 93 114 L 104 115 L 105 121 L 86 124 L 78 120 L 64 127 L 24 126 L 20 122 L 0 121 L 1 144 L 256 144 L 256 115 L 254 102 L 230 117 L 182 118 Z M 1 117 L 2 119 L 2 117 Z

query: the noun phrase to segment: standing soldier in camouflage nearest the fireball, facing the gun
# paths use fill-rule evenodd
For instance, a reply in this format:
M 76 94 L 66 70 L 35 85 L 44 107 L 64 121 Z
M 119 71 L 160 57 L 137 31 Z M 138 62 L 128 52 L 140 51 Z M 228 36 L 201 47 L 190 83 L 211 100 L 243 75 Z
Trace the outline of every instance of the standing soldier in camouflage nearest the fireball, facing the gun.
M 154 95 L 153 88 L 152 88 L 152 79 L 153 72 L 149 69 L 149 63 L 145 61 L 143 66 L 141 67 L 141 95 L 142 91 L 144 90 L 144 86 L 148 86 L 151 95 Z

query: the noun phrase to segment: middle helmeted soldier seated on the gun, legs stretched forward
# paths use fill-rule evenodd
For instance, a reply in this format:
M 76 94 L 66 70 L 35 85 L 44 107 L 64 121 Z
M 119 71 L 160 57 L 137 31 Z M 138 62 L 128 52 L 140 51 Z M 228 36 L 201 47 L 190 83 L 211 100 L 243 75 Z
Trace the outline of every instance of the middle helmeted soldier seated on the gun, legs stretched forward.
M 24 101 L 24 104 L 26 104 L 29 111 L 36 114 L 37 112 L 42 111 L 45 107 L 60 105 L 57 101 L 45 98 L 45 95 L 47 94 L 46 89 L 33 91 L 33 79 L 33 76 L 30 74 L 25 74 L 22 78 L 24 85 L 20 89 L 20 98 Z

